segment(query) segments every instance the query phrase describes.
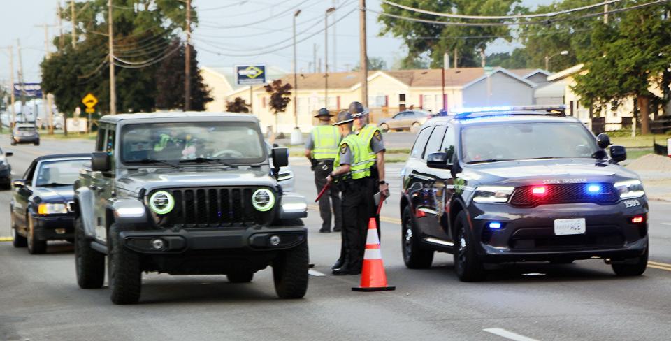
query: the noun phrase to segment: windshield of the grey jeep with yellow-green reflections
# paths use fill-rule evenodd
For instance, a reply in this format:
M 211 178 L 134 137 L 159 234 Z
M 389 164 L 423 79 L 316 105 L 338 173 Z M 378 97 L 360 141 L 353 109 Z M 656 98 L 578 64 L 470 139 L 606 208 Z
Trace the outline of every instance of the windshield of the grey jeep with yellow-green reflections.
M 252 122 L 128 124 L 122 129 L 120 154 L 124 164 L 134 166 L 258 164 L 266 155 Z

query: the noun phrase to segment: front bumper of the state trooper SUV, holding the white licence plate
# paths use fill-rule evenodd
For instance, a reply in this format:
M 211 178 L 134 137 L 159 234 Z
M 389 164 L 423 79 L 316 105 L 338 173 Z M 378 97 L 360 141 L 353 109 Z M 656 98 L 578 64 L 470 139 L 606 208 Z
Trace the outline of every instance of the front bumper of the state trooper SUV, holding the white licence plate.
M 636 200 L 640 205 L 630 208 L 622 201 L 535 208 L 473 204 L 469 208 L 471 231 L 479 240 L 479 256 L 487 262 L 632 258 L 640 256 L 648 242 L 647 201 Z M 631 224 L 630 218 L 637 215 L 643 215 L 644 222 Z M 555 235 L 554 220 L 575 218 L 585 219 L 584 234 Z M 491 229 L 489 222 L 500 222 L 503 227 Z

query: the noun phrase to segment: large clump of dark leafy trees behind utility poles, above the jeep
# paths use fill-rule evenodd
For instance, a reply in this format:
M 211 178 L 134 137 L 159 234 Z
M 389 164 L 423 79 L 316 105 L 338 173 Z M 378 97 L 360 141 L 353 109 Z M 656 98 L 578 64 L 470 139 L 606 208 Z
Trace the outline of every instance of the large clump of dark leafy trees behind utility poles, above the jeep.
M 87 92 L 98 97 L 96 110 L 109 112 L 107 3 L 108 0 L 75 2 L 75 27 L 78 34 L 75 48 L 71 45 L 71 32 L 64 35 L 63 46 L 59 45 L 60 39 L 55 38 L 53 43 L 57 46 L 57 52 L 41 64 L 43 89 L 55 94 L 56 105 L 64 113 L 72 113 L 76 106 L 82 106 L 80 101 Z M 115 67 L 117 112 L 153 111 L 157 107 L 157 80 L 161 77 L 160 58 L 173 51 L 174 58 L 178 58 L 178 52 L 181 52 L 171 50 L 171 42 L 178 38 L 183 29 L 185 3 L 173 0 L 115 0 L 114 5 L 115 57 L 131 64 L 146 65 L 142 68 Z M 64 21 L 71 21 L 68 8 L 64 8 L 61 13 Z M 197 22 L 195 10 L 192 10 L 192 17 Z M 115 63 L 124 64 L 121 61 Z M 174 71 L 181 74 L 182 80 L 183 65 L 182 61 L 181 70 L 175 68 Z M 192 75 L 198 73 L 192 71 Z M 203 89 L 201 83 L 202 80 L 196 78 L 192 86 L 194 89 Z M 175 83 L 173 87 L 176 94 L 180 84 Z M 183 85 L 181 87 L 183 99 Z M 194 94 L 193 103 L 206 101 L 206 98 L 199 100 L 196 97 Z

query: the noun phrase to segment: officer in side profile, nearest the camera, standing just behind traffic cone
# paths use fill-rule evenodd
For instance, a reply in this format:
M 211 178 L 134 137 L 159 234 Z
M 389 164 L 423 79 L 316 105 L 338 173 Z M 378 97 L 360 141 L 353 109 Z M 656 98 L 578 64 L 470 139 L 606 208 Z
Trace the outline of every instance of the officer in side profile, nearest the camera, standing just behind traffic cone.
M 340 266 L 333 275 L 359 275 L 366 247 L 366 225 L 370 217 L 370 201 L 367 200 L 368 150 L 361 138 L 352 132 L 352 115 L 347 111 L 338 113 L 338 131 L 342 136 L 333 172 L 326 177 L 331 184 L 337 181 L 342 191 L 342 249 Z

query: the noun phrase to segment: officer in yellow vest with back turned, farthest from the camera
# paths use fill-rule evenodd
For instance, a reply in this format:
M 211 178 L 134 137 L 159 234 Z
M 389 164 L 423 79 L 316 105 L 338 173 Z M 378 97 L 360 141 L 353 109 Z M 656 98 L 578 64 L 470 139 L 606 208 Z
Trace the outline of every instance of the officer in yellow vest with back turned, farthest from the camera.
M 340 133 L 338 128 L 331 126 L 330 120 L 333 115 L 326 108 L 319 109 L 315 117 L 319 119 L 319 125 L 312 129 L 308 140 L 305 141 L 305 157 L 312 163 L 312 171 L 315 172 L 315 186 L 319 193 L 326 185 L 326 176 L 333 170 L 333 159 L 338 154 Z M 329 203 L 329 197 L 331 203 Z M 333 205 L 335 215 L 333 231 L 340 232 L 342 227 L 340 191 L 335 187 L 329 188 L 322 198 L 319 198 L 319 215 L 322 216 L 322 228 L 319 232 L 331 232 L 331 205 Z

